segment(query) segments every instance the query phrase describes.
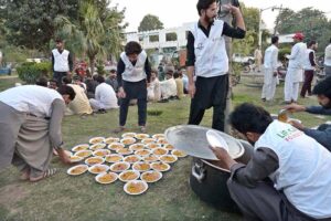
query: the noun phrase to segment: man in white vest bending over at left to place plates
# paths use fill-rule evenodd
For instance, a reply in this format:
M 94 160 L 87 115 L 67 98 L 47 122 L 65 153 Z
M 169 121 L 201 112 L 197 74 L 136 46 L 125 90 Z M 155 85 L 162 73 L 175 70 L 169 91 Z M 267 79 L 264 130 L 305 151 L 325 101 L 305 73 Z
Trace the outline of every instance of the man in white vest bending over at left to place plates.
M 56 172 L 50 169 L 52 149 L 70 162 L 62 149 L 61 123 L 65 104 L 75 97 L 68 86 L 57 92 L 38 85 L 9 88 L 0 93 L 0 170 L 18 167 L 22 180 L 39 181 Z

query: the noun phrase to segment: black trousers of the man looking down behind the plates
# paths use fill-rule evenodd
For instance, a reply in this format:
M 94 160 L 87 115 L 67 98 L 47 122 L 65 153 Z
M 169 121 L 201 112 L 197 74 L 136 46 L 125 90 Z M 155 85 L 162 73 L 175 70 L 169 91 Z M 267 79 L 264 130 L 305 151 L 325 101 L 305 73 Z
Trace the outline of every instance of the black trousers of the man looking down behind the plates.
M 137 99 L 138 105 L 138 125 L 145 126 L 147 119 L 147 84 L 146 80 L 140 82 L 125 82 L 122 84 L 126 92 L 126 98 L 120 99 L 119 126 L 125 126 L 129 110 L 130 99 Z

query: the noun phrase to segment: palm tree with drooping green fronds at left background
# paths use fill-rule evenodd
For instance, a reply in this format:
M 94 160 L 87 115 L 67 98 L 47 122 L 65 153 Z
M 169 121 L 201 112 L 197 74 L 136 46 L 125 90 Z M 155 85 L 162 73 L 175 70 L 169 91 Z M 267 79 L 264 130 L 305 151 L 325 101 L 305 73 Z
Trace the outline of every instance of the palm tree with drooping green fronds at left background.
M 109 0 L 82 0 L 79 2 L 78 22 L 73 23 L 65 17 L 55 19 L 56 34 L 70 39 L 66 45 L 86 53 L 90 71 L 94 73 L 97 59 L 104 60 L 107 54 L 118 55 L 121 51 L 125 9 L 110 8 Z

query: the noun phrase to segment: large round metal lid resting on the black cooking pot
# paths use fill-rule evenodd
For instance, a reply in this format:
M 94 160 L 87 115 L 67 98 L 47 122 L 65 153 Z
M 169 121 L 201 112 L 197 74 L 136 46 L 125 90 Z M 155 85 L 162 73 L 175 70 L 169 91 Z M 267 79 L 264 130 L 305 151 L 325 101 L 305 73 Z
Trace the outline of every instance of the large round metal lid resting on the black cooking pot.
M 183 150 L 192 157 L 217 160 L 216 156 L 210 149 L 206 139 L 206 131 L 211 128 L 196 126 L 196 125 L 179 125 L 170 127 L 166 130 L 164 135 L 169 144 L 175 149 Z M 218 133 L 227 143 L 228 154 L 233 159 L 241 157 L 245 149 L 243 145 L 234 137 L 212 129 Z

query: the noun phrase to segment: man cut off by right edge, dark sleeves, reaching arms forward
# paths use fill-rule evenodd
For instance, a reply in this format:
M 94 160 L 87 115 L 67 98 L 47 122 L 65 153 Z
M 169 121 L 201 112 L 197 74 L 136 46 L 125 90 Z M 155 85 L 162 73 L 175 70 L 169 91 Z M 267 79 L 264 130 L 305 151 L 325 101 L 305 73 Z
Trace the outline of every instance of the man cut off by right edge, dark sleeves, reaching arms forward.
M 331 77 L 327 77 L 320 82 L 312 90 L 312 94 L 317 95 L 317 98 L 321 106 L 309 106 L 290 104 L 285 106 L 290 112 L 308 112 L 311 114 L 331 115 Z M 322 124 L 317 129 L 306 128 L 303 125 L 291 122 L 292 126 L 302 130 L 306 135 L 314 138 L 318 143 L 327 147 L 331 151 L 331 125 Z

